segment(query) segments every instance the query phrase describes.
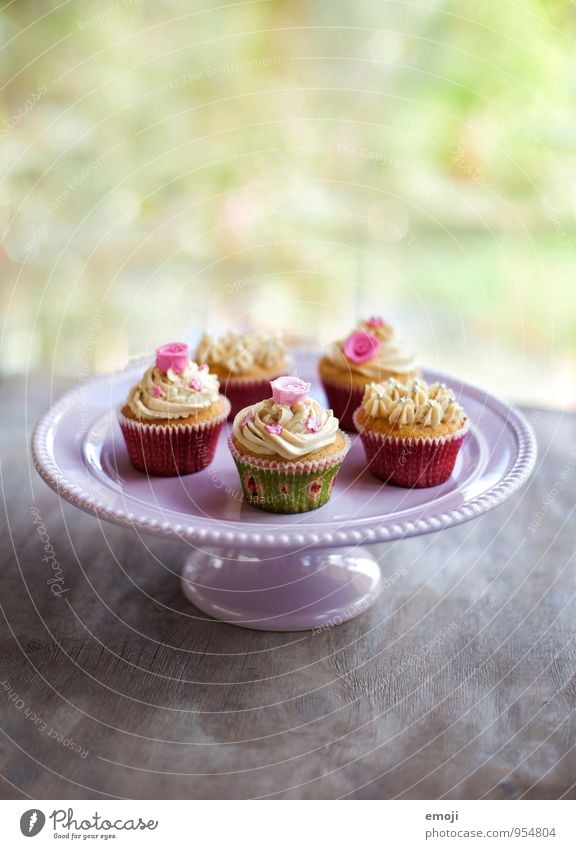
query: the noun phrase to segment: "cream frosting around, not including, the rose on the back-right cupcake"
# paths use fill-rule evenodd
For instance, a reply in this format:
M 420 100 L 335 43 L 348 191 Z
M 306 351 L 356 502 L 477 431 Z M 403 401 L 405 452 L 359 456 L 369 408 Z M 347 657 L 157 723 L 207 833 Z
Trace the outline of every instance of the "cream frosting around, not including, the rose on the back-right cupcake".
M 333 343 L 326 352 L 328 359 L 339 369 L 350 370 L 374 381 L 380 380 L 386 372 L 408 375 L 418 370 L 414 357 L 408 352 L 392 325 L 386 322 L 374 325 L 369 321 L 360 321 L 356 329 L 378 339 L 376 355 L 364 362 L 352 362 L 344 353 L 346 340 L 342 339 Z

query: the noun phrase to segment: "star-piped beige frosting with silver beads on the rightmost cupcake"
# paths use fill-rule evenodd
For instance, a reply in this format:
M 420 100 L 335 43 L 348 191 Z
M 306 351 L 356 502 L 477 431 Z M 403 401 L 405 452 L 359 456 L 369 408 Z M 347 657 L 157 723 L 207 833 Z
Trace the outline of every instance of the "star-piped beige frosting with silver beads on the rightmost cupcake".
M 387 419 L 399 427 L 437 427 L 466 418 L 454 392 L 444 383 L 429 386 L 418 378 L 407 383 L 394 378 L 369 383 L 364 390 L 362 409 L 371 418 Z

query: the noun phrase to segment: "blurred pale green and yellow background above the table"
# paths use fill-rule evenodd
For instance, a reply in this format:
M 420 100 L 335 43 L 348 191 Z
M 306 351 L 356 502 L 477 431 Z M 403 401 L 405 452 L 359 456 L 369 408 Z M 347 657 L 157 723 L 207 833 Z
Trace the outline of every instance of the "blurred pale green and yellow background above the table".
M 381 312 L 576 406 L 575 30 L 563 0 L 4 2 L 2 373 Z

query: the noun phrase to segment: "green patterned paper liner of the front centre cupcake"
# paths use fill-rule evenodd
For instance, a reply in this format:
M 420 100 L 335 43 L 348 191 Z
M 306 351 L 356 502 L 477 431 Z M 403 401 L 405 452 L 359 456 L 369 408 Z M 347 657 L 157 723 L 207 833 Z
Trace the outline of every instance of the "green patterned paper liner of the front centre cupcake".
M 248 504 L 268 513 L 306 513 L 329 500 L 351 442 L 346 437 L 342 451 L 322 460 L 284 463 L 244 456 L 231 437 L 228 445 Z

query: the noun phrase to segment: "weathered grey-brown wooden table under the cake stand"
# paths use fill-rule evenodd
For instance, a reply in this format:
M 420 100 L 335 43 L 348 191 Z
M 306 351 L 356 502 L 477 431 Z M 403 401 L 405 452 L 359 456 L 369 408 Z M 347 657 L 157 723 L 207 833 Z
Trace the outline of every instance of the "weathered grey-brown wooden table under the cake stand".
M 181 545 L 61 502 L 28 444 L 64 386 L 25 388 L 2 386 L 4 798 L 576 798 L 576 416 L 526 411 L 537 473 L 499 509 L 376 547 L 370 611 L 273 634 L 203 619 Z

